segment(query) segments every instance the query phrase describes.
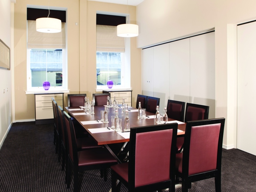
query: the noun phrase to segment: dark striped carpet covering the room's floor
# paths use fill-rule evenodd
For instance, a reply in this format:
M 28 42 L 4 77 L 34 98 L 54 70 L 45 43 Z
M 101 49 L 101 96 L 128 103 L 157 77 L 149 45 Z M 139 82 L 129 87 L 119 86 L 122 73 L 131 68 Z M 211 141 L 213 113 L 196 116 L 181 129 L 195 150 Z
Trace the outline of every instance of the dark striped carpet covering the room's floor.
M 54 152 L 53 124 L 14 123 L 0 149 L 0 192 L 72 192 Z M 256 156 L 238 149 L 223 149 L 222 192 L 256 192 Z M 80 174 L 81 192 L 108 192 L 100 171 Z M 122 186 L 121 192 L 128 190 Z M 214 192 L 214 179 L 192 183 L 189 192 Z M 176 192 L 181 192 L 177 188 Z

